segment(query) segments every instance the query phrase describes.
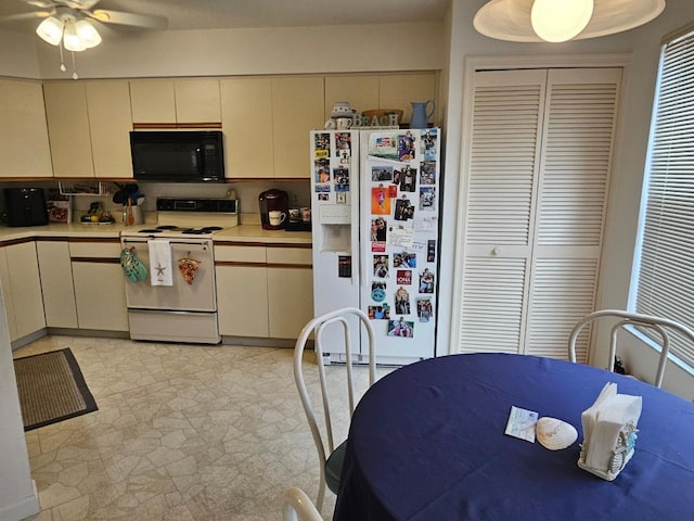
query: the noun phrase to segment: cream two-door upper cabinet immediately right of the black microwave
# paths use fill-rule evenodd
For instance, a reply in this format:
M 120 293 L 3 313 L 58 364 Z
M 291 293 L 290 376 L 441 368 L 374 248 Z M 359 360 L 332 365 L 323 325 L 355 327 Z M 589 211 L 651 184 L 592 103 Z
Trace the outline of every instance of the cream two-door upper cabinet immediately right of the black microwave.
M 323 77 L 221 80 L 229 178 L 307 178 L 308 132 L 322 128 Z

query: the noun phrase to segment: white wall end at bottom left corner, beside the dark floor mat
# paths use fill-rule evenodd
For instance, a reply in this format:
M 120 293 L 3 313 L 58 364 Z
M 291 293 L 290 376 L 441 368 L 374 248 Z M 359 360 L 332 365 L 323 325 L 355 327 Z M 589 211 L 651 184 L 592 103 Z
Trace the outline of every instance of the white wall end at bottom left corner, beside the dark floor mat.
M 0 519 L 16 521 L 39 511 L 29 472 L 10 334 L 0 289 Z

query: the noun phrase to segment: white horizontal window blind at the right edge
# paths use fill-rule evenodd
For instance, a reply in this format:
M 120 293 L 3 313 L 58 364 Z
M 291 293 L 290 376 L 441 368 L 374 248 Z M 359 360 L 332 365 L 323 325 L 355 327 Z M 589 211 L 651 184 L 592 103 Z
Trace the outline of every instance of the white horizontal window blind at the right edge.
M 635 312 L 694 328 L 694 31 L 663 48 L 650 147 Z M 694 369 L 694 345 L 673 336 Z

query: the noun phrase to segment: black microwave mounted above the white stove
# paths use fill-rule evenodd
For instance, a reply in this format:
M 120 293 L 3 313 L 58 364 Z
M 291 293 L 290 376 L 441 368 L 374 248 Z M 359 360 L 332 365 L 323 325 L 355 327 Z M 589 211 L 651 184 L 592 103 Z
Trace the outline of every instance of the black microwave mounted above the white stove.
M 222 132 L 132 131 L 132 176 L 138 181 L 223 182 Z

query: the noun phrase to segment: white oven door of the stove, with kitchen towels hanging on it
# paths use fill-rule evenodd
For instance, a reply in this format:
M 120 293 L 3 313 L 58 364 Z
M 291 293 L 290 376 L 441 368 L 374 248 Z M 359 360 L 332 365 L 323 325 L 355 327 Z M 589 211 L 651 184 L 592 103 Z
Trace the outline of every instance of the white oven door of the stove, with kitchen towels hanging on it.
M 162 240 L 162 239 L 157 239 Z M 171 246 L 172 285 L 151 285 L 147 279 L 132 282 L 126 280 L 126 301 L 129 309 L 160 309 L 171 312 L 216 312 L 217 293 L 215 289 L 215 262 L 213 242 L 208 239 L 168 240 Z M 134 247 L 140 263 L 147 267 L 150 274 L 150 253 L 147 239 L 124 238 L 124 247 Z M 178 267 L 184 258 L 197 260 L 198 269 L 189 284 Z M 156 268 L 154 268 L 156 269 Z

